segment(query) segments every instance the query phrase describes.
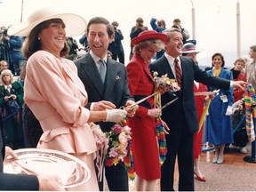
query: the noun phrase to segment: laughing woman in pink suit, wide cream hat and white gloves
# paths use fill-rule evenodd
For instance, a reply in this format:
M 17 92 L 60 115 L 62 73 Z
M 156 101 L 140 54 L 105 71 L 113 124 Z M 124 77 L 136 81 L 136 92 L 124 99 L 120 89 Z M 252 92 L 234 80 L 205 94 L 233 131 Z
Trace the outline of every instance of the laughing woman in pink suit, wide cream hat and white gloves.
M 89 111 L 88 95 L 77 76 L 73 61 L 65 59 L 69 49 L 66 36 L 84 32 L 85 20 L 56 8 L 42 9 L 9 28 L 11 35 L 27 36 L 23 54 L 28 59 L 24 100 L 44 131 L 37 147 L 66 152 L 81 159 L 91 170 L 88 182 L 70 190 L 99 190 L 94 158 L 96 140 L 104 140 L 96 121 L 118 122 L 126 116 L 121 109 Z

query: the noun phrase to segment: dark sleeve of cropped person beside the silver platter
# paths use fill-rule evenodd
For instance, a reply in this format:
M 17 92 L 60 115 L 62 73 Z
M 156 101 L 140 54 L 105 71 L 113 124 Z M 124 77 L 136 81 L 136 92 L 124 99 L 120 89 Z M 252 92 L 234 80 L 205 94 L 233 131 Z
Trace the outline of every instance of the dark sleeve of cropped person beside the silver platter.
M 3 172 L 5 146 L 2 116 L 0 116 L 0 150 L 0 190 L 38 190 L 39 183 L 36 176 Z

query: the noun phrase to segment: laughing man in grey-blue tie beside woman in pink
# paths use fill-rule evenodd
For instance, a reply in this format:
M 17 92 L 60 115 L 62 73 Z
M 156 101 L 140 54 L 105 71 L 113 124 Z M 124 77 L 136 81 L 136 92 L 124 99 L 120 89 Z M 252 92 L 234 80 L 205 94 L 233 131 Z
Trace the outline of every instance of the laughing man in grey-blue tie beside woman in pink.
M 108 58 L 108 44 L 113 41 L 114 28 L 105 18 L 95 17 L 87 25 L 87 38 L 91 51 L 84 57 L 75 61 L 78 68 L 78 76 L 84 83 L 88 92 L 88 104 L 86 108 L 91 110 L 105 110 L 130 106 L 134 100 L 130 96 L 128 88 L 127 71 L 124 64 Z M 103 60 L 105 77 L 101 79 Z M 103 65 L 103 66 L 104 66 Z M 101 67 L 100 67 L 101 66 Z M 135 108 L 127 110 L 127 116 L 132 117 Z M 100 122 L 103 132 L 109 132 L 114 124 Z M 105 176 L 108 181 L 108 188 L 111 191 L 128 191 L 128 175 L 124 163 L 105 166 Z M 103 190 L 103 183 L 100 182 L 100 190 Z

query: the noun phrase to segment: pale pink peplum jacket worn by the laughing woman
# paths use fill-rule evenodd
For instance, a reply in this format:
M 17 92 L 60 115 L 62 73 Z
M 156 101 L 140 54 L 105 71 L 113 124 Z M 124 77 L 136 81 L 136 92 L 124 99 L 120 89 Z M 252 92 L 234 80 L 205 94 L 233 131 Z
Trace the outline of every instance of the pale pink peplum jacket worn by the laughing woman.
M 69 154 L 96 151 L 87 124 L 90 112 L 84 108 L 87 92 L 73 61 L 58 59 L 50 52 L 34 53 L 28 59 L 24 90 L 24 100 L 44 131 L 38 148 Z

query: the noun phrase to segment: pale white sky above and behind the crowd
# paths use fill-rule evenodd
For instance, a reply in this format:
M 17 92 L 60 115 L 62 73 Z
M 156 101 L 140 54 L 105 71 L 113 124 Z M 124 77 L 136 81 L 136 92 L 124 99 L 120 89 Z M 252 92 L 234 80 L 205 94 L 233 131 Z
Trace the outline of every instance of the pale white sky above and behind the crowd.
M 163 19 L 166 27 L 179 18 L 187 28 L 190 39 L 196 37 L 196 47 L 204 50 L 197 54 L 199 65 L 211 66 L 215 52 L 224 55 L 227 66 L 233 66 L 237 56 L 248 55 L 250 46 L 256 44 L 255 0 L 0 0 L 0 26 L 8 27 L 26 22 L 28 15 L 41 7 L 61 7 L 76 12 L 88 22 L 94 16 L 103 16 L 110 22 L 117 20 L 124 40 L 125 63 L 130 52 L 130 32 L 135 20 L 142 17 L 151 29 L 149 20 Z M 22 6 L 23 2 L 23 6 Z M 236 6 L 240 4 L 240 46 L 237 52 Z M 195 9 L 195 31 L 192 27 L 192 7 Z M 23 8 L 23 9 L 22 9 Z M 22 14 L 21 14 L 22 10 Z M 80 36 L 75 38 L 78 40 Z M 79 44 L 79 43 L 78 43 Z

